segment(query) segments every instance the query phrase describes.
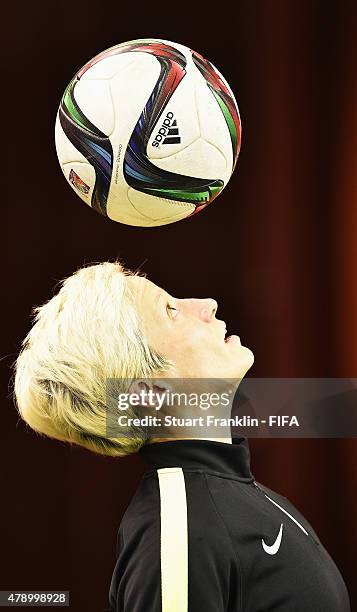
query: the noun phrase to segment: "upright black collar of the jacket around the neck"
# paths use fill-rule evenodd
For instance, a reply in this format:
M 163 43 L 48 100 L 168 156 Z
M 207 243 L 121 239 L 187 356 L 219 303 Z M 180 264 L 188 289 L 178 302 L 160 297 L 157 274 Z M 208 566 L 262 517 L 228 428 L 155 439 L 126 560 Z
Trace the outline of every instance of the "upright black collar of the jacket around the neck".
M 201 439 L 154 442 L 142 446 L 139 454 L 155 470 L 194 468 L 247 482 L 254 480 L 247 438 L 233 438 L 232 444 Z

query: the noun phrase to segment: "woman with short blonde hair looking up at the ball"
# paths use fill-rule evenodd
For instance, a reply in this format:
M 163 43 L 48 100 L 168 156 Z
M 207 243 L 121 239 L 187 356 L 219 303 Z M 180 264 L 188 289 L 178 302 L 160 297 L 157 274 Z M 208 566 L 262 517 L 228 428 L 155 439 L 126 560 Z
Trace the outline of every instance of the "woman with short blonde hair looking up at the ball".
M 119 263 L 79 270 L 36 310 L 17 361 L 20 414 L 40 433 L 112 456 L 139 452 L 149 465 L 119 528 L 113 612 L 347 612 L 342 576 L 312 527 L 255 482 L 246 438 L 198 438 L 189 427 L 181 439 L 175 427 L 153 436 L 140 419 L 108 435 L 108 380 L 117 395 L 140 381 L 165 392 L 165 381 L 246 374 L 253 354 L 226 337 L 216 310 Z M 139 412 L 130 405 L 126 417 Z

